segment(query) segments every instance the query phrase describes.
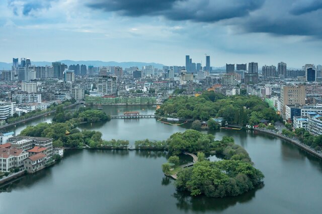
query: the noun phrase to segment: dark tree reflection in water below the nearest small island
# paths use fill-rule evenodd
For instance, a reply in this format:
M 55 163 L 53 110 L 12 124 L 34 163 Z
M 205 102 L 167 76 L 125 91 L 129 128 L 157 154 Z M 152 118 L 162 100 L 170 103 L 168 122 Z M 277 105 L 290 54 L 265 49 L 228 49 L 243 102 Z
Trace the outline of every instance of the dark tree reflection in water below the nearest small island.
M 177 199 L 177 207 L 185 210 L 185 212 L 190 210 L 197 212 L 222 211 L 236 203 L 245 203 L 250 201 L 255 197 L 256 191 L 263 187 L 264 184 L 236 197 L 209 198 L 204 195 L 192 197 L 188 192 L 179 191 L 175 192 L 172 196 Z

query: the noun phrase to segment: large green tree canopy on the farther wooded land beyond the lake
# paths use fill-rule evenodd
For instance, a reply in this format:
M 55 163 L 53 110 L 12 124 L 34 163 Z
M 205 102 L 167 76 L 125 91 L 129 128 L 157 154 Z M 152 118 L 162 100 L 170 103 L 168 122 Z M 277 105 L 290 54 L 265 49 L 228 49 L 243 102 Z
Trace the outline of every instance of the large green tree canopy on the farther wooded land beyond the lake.
M 257 96 L 224 96 L 214 92 L 202 95 L 177 96 L 167 100 L 156 110 L 158 116 L 207 121 L 222 117 L 229 124 L 256 125 L 260 120 L 280 121 L 281 118 Z

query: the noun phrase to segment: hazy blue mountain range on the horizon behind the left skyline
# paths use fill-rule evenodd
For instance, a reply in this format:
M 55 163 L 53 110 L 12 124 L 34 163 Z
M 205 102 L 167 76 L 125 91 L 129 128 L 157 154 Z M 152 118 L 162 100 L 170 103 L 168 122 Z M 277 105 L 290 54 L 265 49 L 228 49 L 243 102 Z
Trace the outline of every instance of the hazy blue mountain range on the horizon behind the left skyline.
M 154 68 L 162 69 L 164 66 L 163 64 L 154 63 L 154 62 L 103 62 L 103 61 L 73 61 L 73 60 L 60 60 L 58 62 L 64 63 L 66 65 L 73 65 L 73 64 L 79 64 L 79 65 L 93 65 L 94 67 L 100 67 L 100 66 L 121 66 L 123 68 L 129 68 L 132 66 L 137 66 L 138 68 L 141 68 L 145 65 L 153 65 Z M 33 62 L 31 61 L 32 65 L 36 66 L 45 66 L 45 65 L 51 65 L 52 62 Z M 0 70 L 10 70 L 12 67 L 12 63 L 6 63 L 6 62 L 0 62 Z

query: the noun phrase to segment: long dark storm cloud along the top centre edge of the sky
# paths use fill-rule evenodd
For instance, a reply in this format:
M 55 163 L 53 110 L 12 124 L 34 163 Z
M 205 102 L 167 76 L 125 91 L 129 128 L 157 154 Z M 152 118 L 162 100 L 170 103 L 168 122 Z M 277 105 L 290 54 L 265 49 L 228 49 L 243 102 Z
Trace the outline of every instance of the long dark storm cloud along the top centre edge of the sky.
M 92 0 L 90 8 L 124 16 L 165 16 L 169 20 L 216 22 L 249 15 L 265 0 Z

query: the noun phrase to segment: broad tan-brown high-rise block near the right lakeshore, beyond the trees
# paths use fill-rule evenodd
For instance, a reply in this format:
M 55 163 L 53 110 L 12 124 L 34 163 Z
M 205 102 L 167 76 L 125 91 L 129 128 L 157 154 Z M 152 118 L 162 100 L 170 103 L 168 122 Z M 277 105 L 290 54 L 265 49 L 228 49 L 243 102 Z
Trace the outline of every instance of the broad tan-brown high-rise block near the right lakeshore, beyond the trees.
M 285 119 L 285 105 L 305 104 L 305 85 L 282 85 L 280 103 L 280 111 Z

